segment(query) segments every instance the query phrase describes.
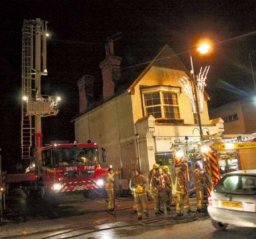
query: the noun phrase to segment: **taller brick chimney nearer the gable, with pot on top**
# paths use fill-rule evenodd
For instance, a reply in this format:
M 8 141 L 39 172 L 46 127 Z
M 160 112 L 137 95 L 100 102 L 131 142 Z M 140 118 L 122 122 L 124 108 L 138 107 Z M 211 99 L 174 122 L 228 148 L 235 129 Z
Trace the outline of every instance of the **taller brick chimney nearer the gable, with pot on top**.
M 105 44 L 106 58 L 100 63 L 103 81 L 103 100 L 112 98 L 115 94 L 115 85 L 120 78 L 120 64 L 122 57 L 115 56 L 113 40 Z

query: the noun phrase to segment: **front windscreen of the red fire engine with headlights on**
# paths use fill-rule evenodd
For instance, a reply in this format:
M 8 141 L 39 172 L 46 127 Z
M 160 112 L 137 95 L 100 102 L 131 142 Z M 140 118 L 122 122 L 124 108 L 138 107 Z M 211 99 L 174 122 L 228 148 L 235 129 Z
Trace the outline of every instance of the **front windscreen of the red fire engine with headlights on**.
M 99 163 L 97 148 L 55 148 L 56 166 L 95 165 Z

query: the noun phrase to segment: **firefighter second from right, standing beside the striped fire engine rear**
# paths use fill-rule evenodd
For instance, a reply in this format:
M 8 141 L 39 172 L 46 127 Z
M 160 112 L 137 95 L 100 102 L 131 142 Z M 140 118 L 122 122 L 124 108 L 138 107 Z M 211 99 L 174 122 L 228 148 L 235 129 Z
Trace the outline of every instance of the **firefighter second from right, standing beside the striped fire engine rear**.
M 184 206 L 185 209 L 190 212 L 189 206 L 189 198 L 188 198 L 188 188 L 187 188 L 187 178 L 185 176 L 185 170 L 187 169 L 185 163 L 183 163 L 176 175 L 176 193 L 177 193 L 177 200 L 176 200 L 176 212 L 177 216 L 182 216 L 181 213 L 181 205 Z

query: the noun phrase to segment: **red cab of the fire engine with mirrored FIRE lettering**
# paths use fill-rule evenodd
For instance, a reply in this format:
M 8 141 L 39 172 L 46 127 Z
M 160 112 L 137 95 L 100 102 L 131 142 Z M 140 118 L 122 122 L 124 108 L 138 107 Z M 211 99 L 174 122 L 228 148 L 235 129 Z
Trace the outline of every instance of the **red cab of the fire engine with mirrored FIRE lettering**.
M 100 166 L 98 145 L 58 144 L 42 148 L 42 163 L 36 161 L 38 190 L 42 198 L 104 188 L 107 168 Z

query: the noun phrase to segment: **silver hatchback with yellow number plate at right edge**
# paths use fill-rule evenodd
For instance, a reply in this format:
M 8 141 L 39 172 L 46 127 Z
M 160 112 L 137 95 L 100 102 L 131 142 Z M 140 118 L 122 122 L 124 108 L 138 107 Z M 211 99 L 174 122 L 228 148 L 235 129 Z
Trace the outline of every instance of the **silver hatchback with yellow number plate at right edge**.
M 210 193 L 207 210 L 217 230 L 228 224 L 256 227 L 256 170 L 225 174 Z

